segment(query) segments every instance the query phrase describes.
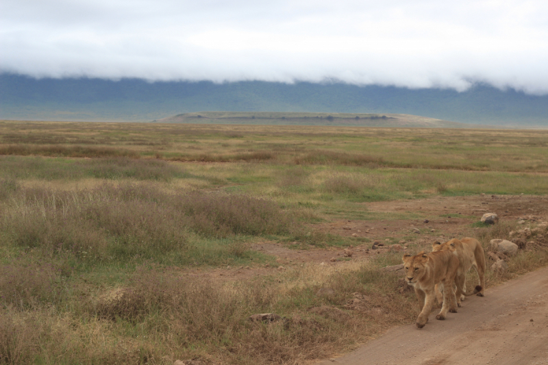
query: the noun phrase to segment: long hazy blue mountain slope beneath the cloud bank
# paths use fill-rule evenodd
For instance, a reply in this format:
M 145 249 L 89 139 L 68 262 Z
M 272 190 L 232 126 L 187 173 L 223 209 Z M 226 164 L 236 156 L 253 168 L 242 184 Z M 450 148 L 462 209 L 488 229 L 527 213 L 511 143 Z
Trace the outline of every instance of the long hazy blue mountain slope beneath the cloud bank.
M 548 96 L 478 85 L 443 89 L 241 81 L 32 79 L 0 75 L 0 118 L 153 121 L 198 111 L 413 114 L 475 125 L 548 127 Z

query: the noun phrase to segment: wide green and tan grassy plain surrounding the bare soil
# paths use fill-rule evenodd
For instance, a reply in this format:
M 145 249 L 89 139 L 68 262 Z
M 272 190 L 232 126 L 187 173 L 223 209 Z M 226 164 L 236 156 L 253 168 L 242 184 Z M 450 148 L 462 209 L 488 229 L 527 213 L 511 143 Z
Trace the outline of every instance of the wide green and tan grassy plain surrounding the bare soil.
M 3 121 L 0 363 L 293 364 L 351 347 L 416 316 L 399 275 L 377 270 L 401 253 L 208 273 L 277 266 L 254 242 L 355 242 L 312 223 L 422 218 L 364 202 L 547 194 L 547 152 L 548 131 Z M 523 252 L 488 284 L 546 263 Z M 247 320 L 269 312 L 284 320 Z

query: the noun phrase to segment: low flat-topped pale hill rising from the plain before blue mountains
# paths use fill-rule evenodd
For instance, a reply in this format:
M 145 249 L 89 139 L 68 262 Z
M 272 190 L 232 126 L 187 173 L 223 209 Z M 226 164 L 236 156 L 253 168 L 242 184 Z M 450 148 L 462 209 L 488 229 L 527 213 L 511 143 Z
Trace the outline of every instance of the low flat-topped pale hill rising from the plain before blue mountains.
M 162 118 L 155 123 L 212 123 L 256 125 L 340 125 L 362 127 L 470 128 L 467 123 L 409 114 L 196 112 Z

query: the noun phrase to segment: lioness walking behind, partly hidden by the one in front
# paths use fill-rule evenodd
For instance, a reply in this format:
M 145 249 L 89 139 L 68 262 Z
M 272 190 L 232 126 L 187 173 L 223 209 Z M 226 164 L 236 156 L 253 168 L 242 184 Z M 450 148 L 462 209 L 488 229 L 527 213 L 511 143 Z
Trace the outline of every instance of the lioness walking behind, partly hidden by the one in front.
M 462 240 L 453 238 L 445 243 L 434 242 L 432 244 L 432 252 L 445 250 L 455 253 L 459 261 L 455 281 L 461 283 L 462 292 L 457 288 L 457 305 L 460 307 L 460 301 L 464 301 L 464 294 L 462 293 L 466 291 L 466 273 L 469 272 L 470 268 L 475 268 L 479 279 L 478 284 L 482 286 L 482 290 L 477 295 L 478 297 L 483 297 L 485 288 L 485 255 L 482 244 L 475 238 L 470 237 L 464 237 Z M 438 302 L 441 303 L 442 293 L 438 289 L 436 289 L 436 297 L 438 298 Z

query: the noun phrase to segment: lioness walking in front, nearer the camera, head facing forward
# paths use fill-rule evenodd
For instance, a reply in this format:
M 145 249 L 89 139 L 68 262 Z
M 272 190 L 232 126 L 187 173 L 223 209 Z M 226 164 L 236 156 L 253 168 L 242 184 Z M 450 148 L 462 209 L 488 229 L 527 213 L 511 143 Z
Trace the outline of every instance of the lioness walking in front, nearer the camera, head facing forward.
M 402 260 L 406 281 L 414 287 L 416 298 L 423 306 L 423 310 L 416 318 L 416 327 L 423 328 L 428 321 L 430 311 L 432 311 L 432 305 L 434 305 L 436 284 L 443 284 L 445 288 L 453 288 L 459 266 L 458 257 L 447 250 L 432 253 L 422 251 L 414 256 L 406 253 Z M 465 295 L 468 297 L 481 289 L 476 287 L 473 293 Z M 453 290 L 443 291 L 443 305 L 436 319 L 445 319 L 448 311 L 457 312 L 457 301 Z

